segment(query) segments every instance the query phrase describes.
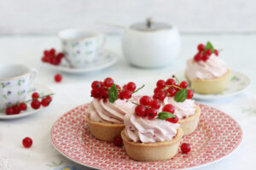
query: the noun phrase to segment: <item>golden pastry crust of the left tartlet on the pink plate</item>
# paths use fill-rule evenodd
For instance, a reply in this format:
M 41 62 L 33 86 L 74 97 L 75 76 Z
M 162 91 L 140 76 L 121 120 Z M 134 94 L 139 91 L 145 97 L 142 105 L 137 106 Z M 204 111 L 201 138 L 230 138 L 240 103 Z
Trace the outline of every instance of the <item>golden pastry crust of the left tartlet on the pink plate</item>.
M 119 137 L 121 131 L 125 128 L 124 124 L 108 123 L 108 122 L 93 122 L 89 116 L 86 120 L 90 129 L 90 133 L 96 138 L 108 142 L 113 142 L 115 137 Z

